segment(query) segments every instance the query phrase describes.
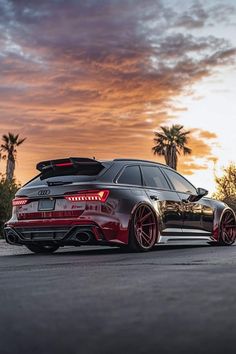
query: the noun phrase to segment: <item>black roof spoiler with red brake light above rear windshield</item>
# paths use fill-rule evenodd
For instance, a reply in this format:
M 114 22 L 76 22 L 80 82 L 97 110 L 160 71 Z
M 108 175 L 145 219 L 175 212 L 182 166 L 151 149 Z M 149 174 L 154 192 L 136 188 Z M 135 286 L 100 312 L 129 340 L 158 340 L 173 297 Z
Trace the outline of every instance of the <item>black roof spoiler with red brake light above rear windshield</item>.
M 61 169 L 84 170 L 85 168 L 103 169 L 103 164 L 100 161 L 89 159 L 86 157 L 69 157 L 58 160 L 41 161 L 36 165 L 36 168 L 41 173 L 49 171 L 58 171 Z

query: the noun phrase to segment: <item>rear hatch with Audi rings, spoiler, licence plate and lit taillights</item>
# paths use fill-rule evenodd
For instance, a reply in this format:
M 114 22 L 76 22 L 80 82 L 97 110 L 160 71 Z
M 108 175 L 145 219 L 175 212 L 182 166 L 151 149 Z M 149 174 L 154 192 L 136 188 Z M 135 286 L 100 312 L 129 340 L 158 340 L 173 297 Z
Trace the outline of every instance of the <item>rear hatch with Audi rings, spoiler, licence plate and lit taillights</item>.
M 66 158 L 37 164 L 40 174 L 23 186 L 13 200 L 18 220 L 79 217 L 88 204 L 106 201 L 109 191 L 99 178 L 109 162 Z

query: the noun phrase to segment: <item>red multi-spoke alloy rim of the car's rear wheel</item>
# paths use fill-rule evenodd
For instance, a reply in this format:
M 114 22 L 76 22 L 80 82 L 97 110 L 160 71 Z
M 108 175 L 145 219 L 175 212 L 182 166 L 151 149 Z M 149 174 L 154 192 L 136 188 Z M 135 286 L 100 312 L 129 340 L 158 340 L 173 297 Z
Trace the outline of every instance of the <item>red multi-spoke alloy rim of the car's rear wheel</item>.
M 156 219 L 148 205 L 139 206 L 135 212 L 134 235 L 141 250 L 151 249 L 156 242 Z

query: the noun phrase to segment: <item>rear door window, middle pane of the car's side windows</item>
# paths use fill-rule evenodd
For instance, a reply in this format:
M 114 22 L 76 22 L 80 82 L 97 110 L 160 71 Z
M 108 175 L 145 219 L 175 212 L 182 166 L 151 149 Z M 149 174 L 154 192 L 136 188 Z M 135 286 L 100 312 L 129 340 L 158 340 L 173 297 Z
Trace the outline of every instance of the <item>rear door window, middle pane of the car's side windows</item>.
M 143 178 L 146 186 L 160 189 L 170 189 L 165 177 L 156 166 L 142 166 Z

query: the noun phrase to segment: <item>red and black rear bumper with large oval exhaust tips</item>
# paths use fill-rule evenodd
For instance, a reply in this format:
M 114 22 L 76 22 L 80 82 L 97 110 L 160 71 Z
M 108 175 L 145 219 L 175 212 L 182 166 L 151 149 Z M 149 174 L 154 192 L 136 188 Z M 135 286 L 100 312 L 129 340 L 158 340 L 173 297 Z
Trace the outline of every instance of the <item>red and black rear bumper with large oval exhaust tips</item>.
M 8 222 L 4 228 L 9 244 L 56 244 L 58 246 L 116 245 L 128 242 L 127 231 L 117 224 L 100 225 L 78 220 L 31 220 Z

